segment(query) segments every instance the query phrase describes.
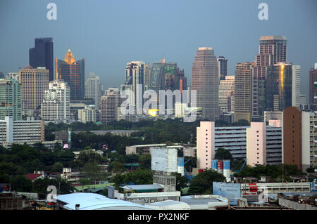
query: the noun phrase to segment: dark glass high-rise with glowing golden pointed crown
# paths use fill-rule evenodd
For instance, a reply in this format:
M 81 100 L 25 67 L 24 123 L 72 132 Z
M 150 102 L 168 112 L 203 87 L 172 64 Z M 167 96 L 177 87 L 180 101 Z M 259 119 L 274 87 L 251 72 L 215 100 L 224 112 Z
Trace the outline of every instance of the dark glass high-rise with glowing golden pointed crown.
M 56 79 L 63 79 L 70 88 L 70 100 L 82 100 L 85 95 L 85 58 L 75 61 L 68 48 L 64 60 L 55 58 Z

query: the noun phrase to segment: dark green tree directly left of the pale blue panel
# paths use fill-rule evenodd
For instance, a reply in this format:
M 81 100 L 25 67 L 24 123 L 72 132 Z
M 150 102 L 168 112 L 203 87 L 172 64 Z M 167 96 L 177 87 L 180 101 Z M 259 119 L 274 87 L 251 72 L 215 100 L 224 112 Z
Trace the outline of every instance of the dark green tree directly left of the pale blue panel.
M 212 169 L 204 170 L 192 178 L 188 193 L 190 195 L 210 195 L 212 194 L 213 182 L 222 182 L 225 180 L 223 174 Z

